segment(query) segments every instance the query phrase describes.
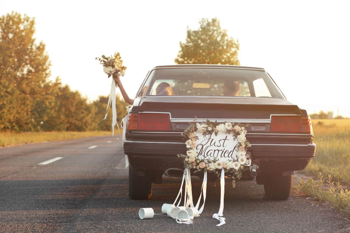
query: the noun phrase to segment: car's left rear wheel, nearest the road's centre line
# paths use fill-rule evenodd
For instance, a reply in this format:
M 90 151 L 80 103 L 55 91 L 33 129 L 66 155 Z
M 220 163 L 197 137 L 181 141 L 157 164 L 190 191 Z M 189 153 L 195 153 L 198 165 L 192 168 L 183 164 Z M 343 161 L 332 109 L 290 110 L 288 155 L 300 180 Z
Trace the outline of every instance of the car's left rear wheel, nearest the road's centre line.
M 129 197 L 133 200 L 149 200 L 152 197 L 152 182 L 145 172 L 140 176 L 129 166 Z

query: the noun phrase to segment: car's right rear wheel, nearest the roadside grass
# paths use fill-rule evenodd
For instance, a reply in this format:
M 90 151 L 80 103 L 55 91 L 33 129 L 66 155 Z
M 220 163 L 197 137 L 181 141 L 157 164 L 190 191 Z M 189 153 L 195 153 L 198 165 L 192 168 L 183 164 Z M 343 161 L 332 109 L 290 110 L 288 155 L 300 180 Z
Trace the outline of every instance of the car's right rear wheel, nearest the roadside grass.
M 273 175 L 264 184 L 268 200 L 287 200 L 293 185 L 293 175 Z

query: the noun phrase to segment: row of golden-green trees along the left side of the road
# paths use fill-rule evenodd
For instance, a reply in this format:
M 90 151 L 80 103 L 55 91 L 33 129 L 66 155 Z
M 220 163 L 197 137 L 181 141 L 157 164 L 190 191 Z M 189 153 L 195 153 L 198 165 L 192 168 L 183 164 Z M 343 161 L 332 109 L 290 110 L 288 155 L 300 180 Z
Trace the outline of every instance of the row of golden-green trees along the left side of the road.
M 49 80 L 51 62 L 34 25 L 19 13 L 0 18 L 0 131 L 110 130 L 112 114 L 103 120 L 108 97 L 89 103 L 59 78 Z M 126 106 L 118 96 L 118 121 Z

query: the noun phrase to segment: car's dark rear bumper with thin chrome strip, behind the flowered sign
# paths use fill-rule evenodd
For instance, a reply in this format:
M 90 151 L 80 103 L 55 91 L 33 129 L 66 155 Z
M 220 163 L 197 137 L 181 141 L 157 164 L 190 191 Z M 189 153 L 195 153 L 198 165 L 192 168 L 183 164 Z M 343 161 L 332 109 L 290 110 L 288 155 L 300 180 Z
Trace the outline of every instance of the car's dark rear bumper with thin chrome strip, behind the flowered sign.
M 259 165 L 261 172 L 303 170 L 315 156 L 314 143 L 264 144 L 252 143 L 252 164 Z M 182 158 L 176 155 L 186 153 L 183 142 L 145 141 L 126 139 L 124 153 L 133 168 L 165 171 L 169 167 L 183 167 Z

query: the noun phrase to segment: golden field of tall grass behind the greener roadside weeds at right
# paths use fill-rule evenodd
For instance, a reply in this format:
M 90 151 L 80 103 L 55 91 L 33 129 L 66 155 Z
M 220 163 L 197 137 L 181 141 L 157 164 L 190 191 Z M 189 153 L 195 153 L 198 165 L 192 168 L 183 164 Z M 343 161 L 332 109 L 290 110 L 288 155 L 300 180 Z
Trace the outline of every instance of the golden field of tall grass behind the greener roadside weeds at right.
M 350 184 L 350 119 L 314 120 L 313 129 L 316 155 L 303 172 Z

